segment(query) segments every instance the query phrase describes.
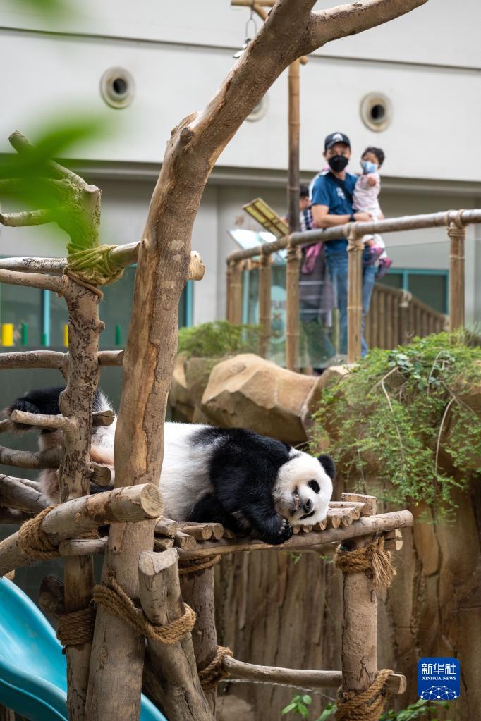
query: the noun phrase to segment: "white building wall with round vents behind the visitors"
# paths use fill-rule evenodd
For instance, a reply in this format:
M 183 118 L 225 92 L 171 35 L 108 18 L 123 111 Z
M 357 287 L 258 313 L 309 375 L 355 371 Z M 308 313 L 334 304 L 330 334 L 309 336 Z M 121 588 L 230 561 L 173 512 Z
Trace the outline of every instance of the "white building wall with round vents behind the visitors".
M 231 9 L 229 0 L 85 0 L 54 26 L 33 9 L 0 0 L 0 152 L 9 151 L 6 138 L 14 129 L 35 139 L 45 119 L 101 113 L 110 120 L 109 131 L 72 156 L 102 187 L 102 239 L 131 242 L 144 226 L 171 129 L 202 108 L 229 72 L 248 17 L 246 9 Z M 430 0 L 311 56 L 301 67 L 303 177 L 322 164 L 324 136 L 340 129 L 353 143 L 354 171 L 366 145 L 386 151 L 381 203 L 387 216 L 479 207 L 480 21 L 477 0 L 462 6 Z M 135 81 L 135 98 L 125 110 L 107 107 L 100 95 L 100 78 L 112 66 L 126 68 Z M 382 133 L 361 121 L 360 102 L 369 92 L 392 102 L 392 124 Z M 261 195 L 285 211 L 286 95 L 283 74 L 268 92 L 264 118 L 242 125 L 214 169 L 193 231 L 193 247 L 207 267 L 203 282 L 195 284 L 195 322 L 224 315 L 224 261 L 234 249 L 226 230 L 239 221 L 242 204 Z M 481 239 L 469 232 L 467 309 L 481 317 Z M 50 226 L 3 229 L 1 252 L 63 255 L 63 244 L 53 237 Z M 385 240 L 397 267 L 448 267 L 442 230 Z

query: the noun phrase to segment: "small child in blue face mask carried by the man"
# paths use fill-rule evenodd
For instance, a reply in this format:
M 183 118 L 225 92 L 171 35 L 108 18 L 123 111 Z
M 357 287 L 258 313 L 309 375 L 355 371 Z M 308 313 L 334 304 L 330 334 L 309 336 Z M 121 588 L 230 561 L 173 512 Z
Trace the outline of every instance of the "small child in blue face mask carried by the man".
M 384 151 L 381 148 L 369 147 L 361 156 L 362 174 L 358 177 L 353 193 L 354 211 L 371 213 L 374 221 L 382 220 L 384 215 L 379 205 L 379 193 L 381 192 L 381 177 L 379 169 L 384 162 Z M 371 249 L 371 262 L 374 265 L 379 261 L 376 278 L 386 275 L 392 266 L 392 260 L 387 257 L 386 246 L 379 234 L 365 235 L 363 242 Z

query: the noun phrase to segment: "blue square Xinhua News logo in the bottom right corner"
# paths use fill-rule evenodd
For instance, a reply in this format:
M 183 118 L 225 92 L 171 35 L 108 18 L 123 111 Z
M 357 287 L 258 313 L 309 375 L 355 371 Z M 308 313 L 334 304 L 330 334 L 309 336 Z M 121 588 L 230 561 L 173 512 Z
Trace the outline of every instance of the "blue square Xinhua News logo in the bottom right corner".
M 454 701 L 461 689 L 457 658 L 420 658 L 418 696 L 425 701 Z

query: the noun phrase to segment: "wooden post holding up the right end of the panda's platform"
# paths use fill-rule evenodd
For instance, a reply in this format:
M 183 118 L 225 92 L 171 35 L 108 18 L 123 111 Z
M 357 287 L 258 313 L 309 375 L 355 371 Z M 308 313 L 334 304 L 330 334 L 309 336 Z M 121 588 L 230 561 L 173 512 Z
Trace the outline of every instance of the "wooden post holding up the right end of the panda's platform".
M 350 539 L 350 550 L 369 544 L 374 536 Z M 349 699 L 366 691 L 377 675 L 377 598 L 365 571 L 343 574 L 341 637 L 342 691 Z

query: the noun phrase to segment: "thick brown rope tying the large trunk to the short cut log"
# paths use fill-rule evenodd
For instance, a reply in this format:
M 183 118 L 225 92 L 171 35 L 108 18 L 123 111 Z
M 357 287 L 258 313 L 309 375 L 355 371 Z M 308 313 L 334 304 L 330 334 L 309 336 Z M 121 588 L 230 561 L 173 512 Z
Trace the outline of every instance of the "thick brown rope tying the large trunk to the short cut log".
M 112 616 L 118 616 L 138 633 L 161 643 L 177 643 L 192 631 L 195 624 L 195 613 L 187 603 L 184 603 L 185 611 L 179 619 L 162 626 L 151 624 L 144 611 L 133 603 L 115 578 L 110 579 L 110 585 L 96 585 L 93 598 Z

